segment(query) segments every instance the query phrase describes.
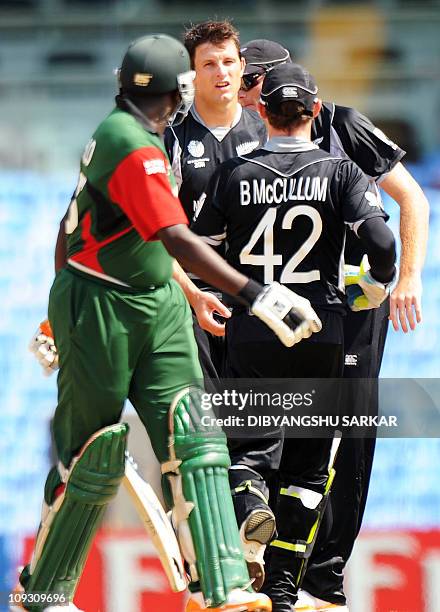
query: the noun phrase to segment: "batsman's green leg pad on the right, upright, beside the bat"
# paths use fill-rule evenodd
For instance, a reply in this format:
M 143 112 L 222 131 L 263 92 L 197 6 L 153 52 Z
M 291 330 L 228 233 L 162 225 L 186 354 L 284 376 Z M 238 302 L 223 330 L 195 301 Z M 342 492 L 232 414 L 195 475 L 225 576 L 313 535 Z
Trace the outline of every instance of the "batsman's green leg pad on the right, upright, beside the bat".
M 206 605 L 223 604 L 249 586 L 229 489 L 226 437 L 201 391 L 185 389 L 170 408 L 170 461 L 162 465 L 173 496 L 173 523 Z

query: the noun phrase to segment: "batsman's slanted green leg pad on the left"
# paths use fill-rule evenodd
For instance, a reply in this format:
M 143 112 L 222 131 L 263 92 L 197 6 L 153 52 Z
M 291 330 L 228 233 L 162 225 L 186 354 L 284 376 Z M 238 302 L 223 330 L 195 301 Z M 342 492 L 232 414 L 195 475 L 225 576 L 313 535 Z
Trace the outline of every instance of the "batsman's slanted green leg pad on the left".
M 127 434 L 124 423 L 101 429 L 65 470 L 64 491 L 43 511 L 32 562 L 20 577 L 26 591 L 73 598 L 92 539 L 124 476 Z

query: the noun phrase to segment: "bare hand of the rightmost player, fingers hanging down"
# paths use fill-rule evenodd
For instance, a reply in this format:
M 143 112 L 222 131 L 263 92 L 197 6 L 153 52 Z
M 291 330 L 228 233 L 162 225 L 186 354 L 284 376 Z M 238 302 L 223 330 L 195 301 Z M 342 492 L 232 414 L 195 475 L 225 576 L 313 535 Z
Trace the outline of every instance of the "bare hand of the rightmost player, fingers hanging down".
M 415 315 L 415 316 L 414 316 Z M 391 293 L 390 321 L 395 331 L 399 331 L 399 322 L 402 331 L 414 330 L 417 323 L 422 321 L 422 279 L 420 274 L 401 276 Z

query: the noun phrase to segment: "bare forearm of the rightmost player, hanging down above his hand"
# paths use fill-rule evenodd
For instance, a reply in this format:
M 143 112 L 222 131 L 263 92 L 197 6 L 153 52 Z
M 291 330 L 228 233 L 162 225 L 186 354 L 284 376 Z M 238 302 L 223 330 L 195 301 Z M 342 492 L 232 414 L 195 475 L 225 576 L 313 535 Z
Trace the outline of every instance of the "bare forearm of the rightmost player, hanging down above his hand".
M 397 164 L 381 187 L 400 207 L 400 279 L 420 276 L 426 255 L 429 203 L 418 183 Z

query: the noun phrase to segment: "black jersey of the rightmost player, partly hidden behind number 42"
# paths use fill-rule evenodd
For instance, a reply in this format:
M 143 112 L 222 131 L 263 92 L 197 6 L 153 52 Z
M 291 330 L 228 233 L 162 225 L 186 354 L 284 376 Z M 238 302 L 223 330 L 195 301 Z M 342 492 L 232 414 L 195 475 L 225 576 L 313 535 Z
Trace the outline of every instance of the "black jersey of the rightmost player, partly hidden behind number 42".
M 404 157 L 405 151 L 392 142 L 367 117 L 354 108 L 324 102 L 313 122 L 312 139 L 331 155 L 352 159 L 371 180 L 372 186 Z M 379 189 L 376 186 L 378 197 Z M 347 263 L 359 265 L 364 255 L 361 241 L 349 232 L 345 247 Z

